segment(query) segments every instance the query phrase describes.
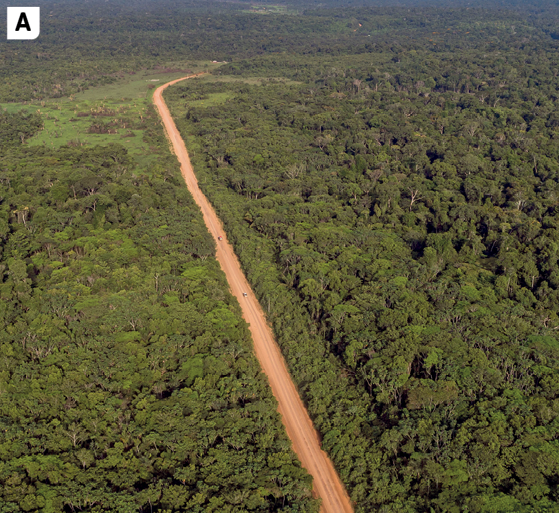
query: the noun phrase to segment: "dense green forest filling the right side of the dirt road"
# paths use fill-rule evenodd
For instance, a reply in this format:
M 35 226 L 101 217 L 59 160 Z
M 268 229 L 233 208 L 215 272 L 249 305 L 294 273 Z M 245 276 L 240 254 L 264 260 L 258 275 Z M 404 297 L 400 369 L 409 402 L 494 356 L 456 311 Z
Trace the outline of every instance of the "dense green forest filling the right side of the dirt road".
M 558 508 L 559 54 L 528 30 L 166 92 L 360 511 Z

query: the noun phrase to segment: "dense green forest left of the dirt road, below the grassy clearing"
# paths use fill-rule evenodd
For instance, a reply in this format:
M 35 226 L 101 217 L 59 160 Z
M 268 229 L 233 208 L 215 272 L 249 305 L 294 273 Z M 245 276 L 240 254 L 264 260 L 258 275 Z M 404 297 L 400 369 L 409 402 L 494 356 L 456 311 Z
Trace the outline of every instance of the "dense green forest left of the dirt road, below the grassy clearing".
M 316 512 L 157 115 L 25 147 L 1 113 L 0 511 Z

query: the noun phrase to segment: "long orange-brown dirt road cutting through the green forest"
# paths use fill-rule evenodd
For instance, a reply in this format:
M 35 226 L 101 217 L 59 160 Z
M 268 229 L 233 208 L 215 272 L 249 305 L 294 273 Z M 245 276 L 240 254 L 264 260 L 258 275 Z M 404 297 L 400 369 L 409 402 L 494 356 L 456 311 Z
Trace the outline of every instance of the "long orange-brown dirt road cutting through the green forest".
M 241 271 L 237 255 L 227 242 L 226 233 L 221 227 L 217 214 L 198 187 L 184 141 L 162 99 L 162 91 L 166 87 L 186 78 L 191 77 L 179 78 L 155 89 L 153 102 L 163 119 L 167 135 L 173 145 L 173 151 L 181 163 L 182 176 L 188 185 L 188 190 L 201 208 L 206 226 L 217 242 L 217 260 L 226 274 L 232 293 L 241 304 L 243 318 L 250 325 L 254 352 L 270 380 L 272 393 L 279 403 L 278 411 L 281 413 L 287 435 L 292 440 L 294 451 L 314 479 L 313 492 L 322 499 L 321 512 L 351 513 L 353 508 L 351 508 L 347 492 L 326 453 L 320 449 L 318 433 L 316 433 L 303 401 L 300 400 L 292 378 L 287 372 L 285 361 L 265 321 L 260 304 Z M 223 240 L 217 240 L 218 236 L 223 237 Z M 247 297 L 244 297 L 243 293 L 246 293 Z

